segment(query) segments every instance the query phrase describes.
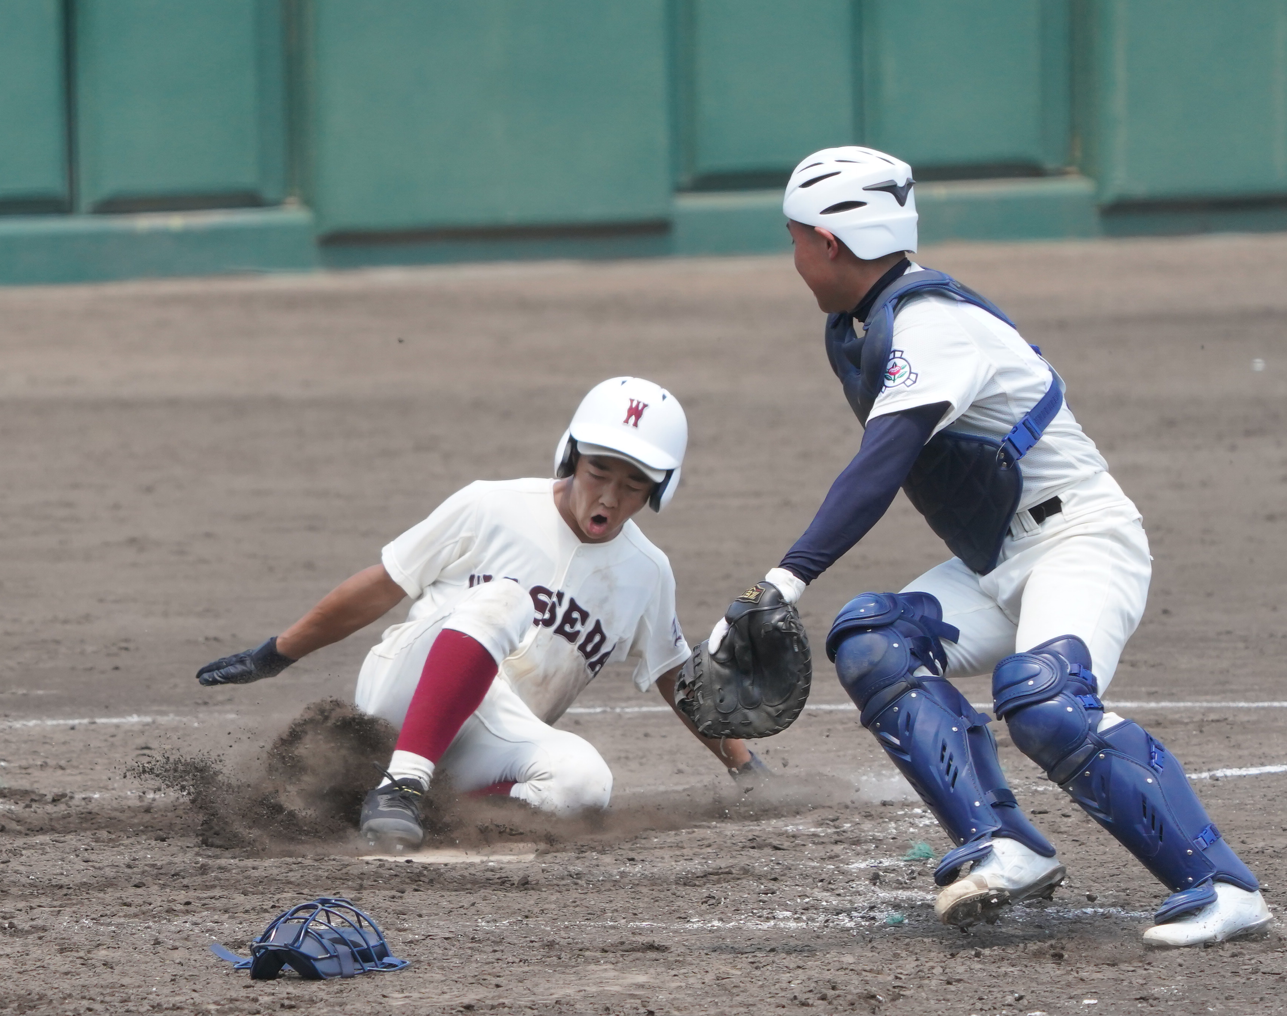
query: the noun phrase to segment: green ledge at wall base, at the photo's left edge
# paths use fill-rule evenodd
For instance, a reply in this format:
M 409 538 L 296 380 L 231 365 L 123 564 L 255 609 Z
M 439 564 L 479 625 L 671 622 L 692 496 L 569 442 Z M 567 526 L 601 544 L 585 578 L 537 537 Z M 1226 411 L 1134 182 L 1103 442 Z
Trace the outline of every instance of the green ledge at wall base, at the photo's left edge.
M 317 266 L 305 208 L 0 216 L 0 284 L 8 286 Z

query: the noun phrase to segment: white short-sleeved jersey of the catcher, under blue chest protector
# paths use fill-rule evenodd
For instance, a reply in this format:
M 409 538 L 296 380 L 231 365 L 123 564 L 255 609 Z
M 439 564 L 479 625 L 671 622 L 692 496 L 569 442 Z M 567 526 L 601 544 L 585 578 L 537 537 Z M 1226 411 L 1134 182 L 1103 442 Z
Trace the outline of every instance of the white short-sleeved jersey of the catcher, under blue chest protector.
M 912 265 L 906 274 L 919 270 Z M 1050 369 L 1001 319 L 945 295 L 914 296 L 894 315 L 885 387 L 869 419 L 947 403 L 936 433 L 950 428 L 1001 440 L 1050 382 Z M 1019 460 L 1019 469 L 1023 509 L 1106 472 L 1108 463 L 1064 403 L 1041 440 Z

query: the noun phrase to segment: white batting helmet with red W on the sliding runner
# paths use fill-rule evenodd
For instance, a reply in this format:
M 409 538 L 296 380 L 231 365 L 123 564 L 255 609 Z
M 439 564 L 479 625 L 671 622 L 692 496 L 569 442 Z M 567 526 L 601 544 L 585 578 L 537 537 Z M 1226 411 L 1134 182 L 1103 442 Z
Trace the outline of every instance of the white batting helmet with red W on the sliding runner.
M 644 378 L 609 378 L 580 400 L 555 450 L 555 476 L 571 476 L 577 455 L 610 455 L 640 468 L 656 486 L 649 507 L 660 512 L 680 486 L 689 418 L 680 400 Z

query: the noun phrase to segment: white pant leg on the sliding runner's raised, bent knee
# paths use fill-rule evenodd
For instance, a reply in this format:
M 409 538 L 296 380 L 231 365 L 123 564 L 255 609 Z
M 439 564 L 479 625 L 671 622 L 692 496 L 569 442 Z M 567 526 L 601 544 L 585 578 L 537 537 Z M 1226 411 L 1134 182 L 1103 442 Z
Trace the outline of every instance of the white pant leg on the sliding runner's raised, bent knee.
M 389 629 L 385 640 L 371 649 L 362 664 L 354 692 L 358 709 L 402 728 L 425 660 L 444 628 L 477 640 L 499 664 L 519 648 L 532 628 L 532 598 L 508 579 L 484 583 L 470 589 L 449 610 Z

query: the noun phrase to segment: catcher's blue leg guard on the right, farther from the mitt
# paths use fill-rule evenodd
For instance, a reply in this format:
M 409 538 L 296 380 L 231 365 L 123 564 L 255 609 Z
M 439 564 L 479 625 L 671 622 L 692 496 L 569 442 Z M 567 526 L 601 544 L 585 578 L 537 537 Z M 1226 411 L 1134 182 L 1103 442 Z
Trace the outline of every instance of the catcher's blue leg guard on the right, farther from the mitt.
M 1259 889 L 1160 741 L 1131 721 L 1099 733 L 1104 706 L 1080 638 L 1008 656 L 992 674 L 992 694 L 1015 747 L 1172 890 L 1158 922 L 1215 900 L 1212 882 Z

